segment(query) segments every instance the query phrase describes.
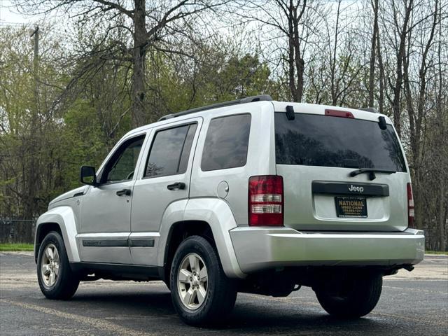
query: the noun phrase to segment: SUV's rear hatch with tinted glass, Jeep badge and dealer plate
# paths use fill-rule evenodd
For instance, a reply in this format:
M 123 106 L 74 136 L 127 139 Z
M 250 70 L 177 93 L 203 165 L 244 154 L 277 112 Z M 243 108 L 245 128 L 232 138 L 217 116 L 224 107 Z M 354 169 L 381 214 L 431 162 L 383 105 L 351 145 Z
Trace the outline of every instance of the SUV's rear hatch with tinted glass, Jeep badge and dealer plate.
M 405 230 L 409 174 L 390 120 L 385 118 L 382 130 L 377 113 L 293 107 L 294 118 L 274 114 L 284 225 L 314 231 Z M 384 172 L 354 173 L 358 169 Z

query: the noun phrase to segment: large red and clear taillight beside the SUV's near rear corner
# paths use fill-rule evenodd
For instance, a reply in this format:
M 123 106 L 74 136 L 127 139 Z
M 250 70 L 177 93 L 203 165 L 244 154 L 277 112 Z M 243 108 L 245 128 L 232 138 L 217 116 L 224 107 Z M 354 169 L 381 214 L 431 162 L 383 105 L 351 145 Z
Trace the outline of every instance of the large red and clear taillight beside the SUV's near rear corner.
M 248 223 L 251 226 L 283 226 L 281 176 L 251 176 L 248 190 Z

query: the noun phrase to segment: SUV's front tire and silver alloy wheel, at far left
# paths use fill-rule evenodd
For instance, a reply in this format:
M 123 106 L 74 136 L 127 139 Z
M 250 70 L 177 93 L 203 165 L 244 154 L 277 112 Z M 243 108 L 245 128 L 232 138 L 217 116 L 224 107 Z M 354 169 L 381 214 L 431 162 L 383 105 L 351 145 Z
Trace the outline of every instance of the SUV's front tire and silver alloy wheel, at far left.
M 64 239 L 59 232 L 49 232 L 39 248 L 37 279 L 45 297 L 67 300 L 78 289 L 79 278 L 71 271 L 65 251 Z

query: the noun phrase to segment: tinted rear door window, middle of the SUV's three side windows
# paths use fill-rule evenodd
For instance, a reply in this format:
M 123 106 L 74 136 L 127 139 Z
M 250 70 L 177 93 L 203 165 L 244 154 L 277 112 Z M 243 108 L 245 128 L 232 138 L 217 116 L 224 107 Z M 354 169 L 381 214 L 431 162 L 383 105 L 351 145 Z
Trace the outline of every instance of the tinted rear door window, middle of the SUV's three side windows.
M 157 132 L 144 177 L 185 173 L 196 127 L 197 124 L 190 124 Z

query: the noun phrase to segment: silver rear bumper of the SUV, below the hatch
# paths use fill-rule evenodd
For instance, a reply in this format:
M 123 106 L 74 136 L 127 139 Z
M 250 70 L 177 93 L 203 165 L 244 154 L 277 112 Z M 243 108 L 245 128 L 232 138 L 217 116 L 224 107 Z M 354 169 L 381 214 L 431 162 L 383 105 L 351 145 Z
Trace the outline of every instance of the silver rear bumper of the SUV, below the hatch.
M 284 266 L 393 266 L 423 260 L 423 231 L 299 232 L 290 228 L 230 230 L 241 271 Z

